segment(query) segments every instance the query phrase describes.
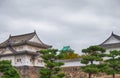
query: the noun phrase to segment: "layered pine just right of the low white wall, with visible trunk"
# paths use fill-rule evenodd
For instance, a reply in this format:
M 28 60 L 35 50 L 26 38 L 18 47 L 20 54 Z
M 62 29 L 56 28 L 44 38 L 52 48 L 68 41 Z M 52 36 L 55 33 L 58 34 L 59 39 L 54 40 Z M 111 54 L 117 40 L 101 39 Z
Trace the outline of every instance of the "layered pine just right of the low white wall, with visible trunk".
M 82 66 L 82 71 L 88 73 L 89 78 L 92 74 L 102 72 L 102 65 L 100 62 L 103 61 L 105 49 L 100 46 L 90 46 L 87 49 L 82 49 L 83 55 L 80 56 L 81 63 L 85 64 Z M 103 66 L 103 67 L 102 67 Z

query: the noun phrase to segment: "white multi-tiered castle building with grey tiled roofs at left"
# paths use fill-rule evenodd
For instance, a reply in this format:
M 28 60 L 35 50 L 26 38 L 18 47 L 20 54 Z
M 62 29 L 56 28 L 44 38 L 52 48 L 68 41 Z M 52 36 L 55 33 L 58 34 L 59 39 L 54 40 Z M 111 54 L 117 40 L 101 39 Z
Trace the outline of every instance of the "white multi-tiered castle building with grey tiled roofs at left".
M 9 36 L 0 44 L 0 60 L 10 60 L 13 66 L 43 66 L 37 51 L 51 47 L 44 44 L 36 32 Z

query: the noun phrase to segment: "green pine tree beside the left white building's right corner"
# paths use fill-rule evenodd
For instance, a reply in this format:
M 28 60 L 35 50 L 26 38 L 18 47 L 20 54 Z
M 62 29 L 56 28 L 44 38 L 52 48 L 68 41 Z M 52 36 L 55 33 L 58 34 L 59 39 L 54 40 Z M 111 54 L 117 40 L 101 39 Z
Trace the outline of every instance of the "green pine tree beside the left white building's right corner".
M 40 50 L 40 55 L 45 63 L 45 67 L 40 69 L 40 78 L 63 78 L 65 75 L 61 73 L 60 66 L 64 63 L 58 60 L 62 58 L 61 54 L 57 54 L 57 49 Z

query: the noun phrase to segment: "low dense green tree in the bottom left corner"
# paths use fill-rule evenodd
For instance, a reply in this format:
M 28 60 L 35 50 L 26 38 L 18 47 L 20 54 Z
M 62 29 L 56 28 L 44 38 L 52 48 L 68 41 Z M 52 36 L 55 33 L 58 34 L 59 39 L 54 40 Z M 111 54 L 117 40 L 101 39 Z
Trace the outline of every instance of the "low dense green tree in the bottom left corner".
M 20 78 L 19 73 L 8 60 L 0 61 L 0 72 L 3 73 L 2 78 Z

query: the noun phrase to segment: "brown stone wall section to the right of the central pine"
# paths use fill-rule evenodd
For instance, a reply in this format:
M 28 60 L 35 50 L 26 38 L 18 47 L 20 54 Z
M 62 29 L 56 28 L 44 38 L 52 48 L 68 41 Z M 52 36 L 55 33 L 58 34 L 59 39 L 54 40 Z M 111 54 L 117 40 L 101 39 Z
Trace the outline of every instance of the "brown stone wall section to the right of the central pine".
M 82 72 L 80 66 L 63 67 L 62 71 L 66 74 L 65 78 L 88 78 L 88 74 Z M 92 78 L 112 78 L 112 76 L 100 73 L 92 75 Z M 115 78 L 120 78 L 120 75 L 116 75 Z

